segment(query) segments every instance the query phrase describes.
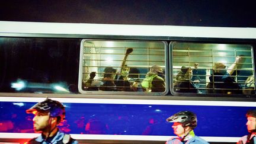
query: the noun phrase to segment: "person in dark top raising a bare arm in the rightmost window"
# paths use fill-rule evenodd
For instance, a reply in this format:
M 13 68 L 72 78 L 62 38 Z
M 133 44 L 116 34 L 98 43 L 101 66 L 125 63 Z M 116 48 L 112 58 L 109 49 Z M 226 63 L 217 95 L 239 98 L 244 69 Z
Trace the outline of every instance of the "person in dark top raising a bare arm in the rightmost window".
M 225 63 L 215 63 L 213 66 L 213 75 L 209 77 L 210 82 L 207 85 L 208 92 L 217 94 L 242 94 L 242 87 L 230 76 L 236 69 L 236 63 L 240 63 L 241 60 L 240 56 L 236 57 L 235 62 L 229 68 Z

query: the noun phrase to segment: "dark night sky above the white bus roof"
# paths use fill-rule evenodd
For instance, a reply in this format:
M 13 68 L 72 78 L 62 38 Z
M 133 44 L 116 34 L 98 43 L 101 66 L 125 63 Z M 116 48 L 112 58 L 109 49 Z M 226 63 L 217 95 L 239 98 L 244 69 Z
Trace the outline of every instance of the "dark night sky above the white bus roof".
M 7 0 L 1 21 L 256 27 L 254 1 Z

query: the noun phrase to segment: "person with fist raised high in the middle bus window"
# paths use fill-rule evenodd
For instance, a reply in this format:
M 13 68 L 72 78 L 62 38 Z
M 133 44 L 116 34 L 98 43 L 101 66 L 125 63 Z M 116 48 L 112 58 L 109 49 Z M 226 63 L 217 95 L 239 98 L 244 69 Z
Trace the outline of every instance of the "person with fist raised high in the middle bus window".
M 117 90 L 119 90 L 119 91 L 132 91 L 130 82 L 128 81 L 130 67 L 125 64 L 127 57 L 132 52 L 133 52 L 132 48 L 126 49 L 126 53 L 125 53 L 123 62 L 121 63 L 121 67 L 117 72 L 115 84 L 116 84 Z

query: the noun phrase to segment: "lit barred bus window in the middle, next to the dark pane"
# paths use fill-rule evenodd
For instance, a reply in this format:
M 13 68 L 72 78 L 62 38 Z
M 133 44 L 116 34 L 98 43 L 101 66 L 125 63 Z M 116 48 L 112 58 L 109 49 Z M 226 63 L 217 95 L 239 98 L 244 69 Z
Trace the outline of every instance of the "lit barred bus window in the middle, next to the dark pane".
M 163 94 L 166 46 L 162 41 L 83 40 L 79 91 Z

